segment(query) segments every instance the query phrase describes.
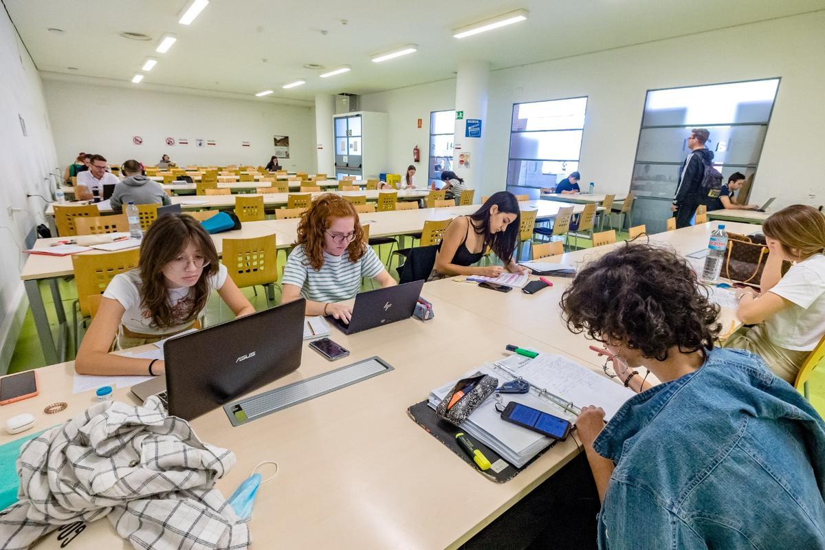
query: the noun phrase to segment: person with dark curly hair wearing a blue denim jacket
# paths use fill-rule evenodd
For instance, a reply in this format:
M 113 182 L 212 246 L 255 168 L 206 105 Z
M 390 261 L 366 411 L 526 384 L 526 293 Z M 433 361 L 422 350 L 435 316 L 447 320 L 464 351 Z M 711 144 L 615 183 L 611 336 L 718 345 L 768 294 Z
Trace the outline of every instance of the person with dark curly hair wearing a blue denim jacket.
M 631 244 L 579 272 L 570 330 L 606 344 L 641 391 L 578 435 L 602 506 L 599 548 L 825 548 L 825 422 L 758 355 L 714 348 L 718 308 L 681 256 Z

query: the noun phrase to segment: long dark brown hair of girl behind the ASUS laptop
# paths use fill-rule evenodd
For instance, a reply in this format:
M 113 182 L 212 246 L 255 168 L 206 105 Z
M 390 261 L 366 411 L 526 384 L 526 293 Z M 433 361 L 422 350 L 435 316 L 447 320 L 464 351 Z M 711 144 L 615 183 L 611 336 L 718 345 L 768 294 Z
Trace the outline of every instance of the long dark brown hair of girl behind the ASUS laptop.
M 198 282 L 192 287 L 194 304 L 185 319 L 172 317 L 163 268 L 192 242 L 209 263 L 203 266 Z M 145 308 L 156 327 L 172 327 L 180 322 L 195 321 L 209 299 L 209 277 L 218 273 L 218 252 L 209 233 L 186 214 L 165 214 L 149 226 L 140 246 L 140 305 Z

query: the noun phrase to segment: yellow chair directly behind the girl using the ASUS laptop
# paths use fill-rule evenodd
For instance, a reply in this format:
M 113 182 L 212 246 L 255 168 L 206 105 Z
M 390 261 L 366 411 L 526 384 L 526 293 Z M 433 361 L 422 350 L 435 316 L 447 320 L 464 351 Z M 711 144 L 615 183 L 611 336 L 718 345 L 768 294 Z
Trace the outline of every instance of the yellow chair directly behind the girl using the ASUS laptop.
M 74 349 L 78 349 L 80 328 L 91 319 L 89 297 L 103 294 L 115 275 L 134 270 L 138 266 L 139 248 L 130 248 L 106 254 L 76 254 L 72 256 L 74 284 L 78 289 L 78 299 L 72 304 L 74 327 Z M 80 321 L 78 322 L 78 313 Z

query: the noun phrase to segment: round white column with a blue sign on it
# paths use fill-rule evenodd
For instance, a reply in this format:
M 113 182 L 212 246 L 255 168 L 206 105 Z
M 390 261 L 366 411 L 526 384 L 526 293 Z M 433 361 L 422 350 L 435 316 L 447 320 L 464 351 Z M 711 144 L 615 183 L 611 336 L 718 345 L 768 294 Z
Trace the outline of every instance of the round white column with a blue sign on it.
M 460 61 L 458 76 L 455 82 L 455 135 L 453 136 L 455 150 L 453 152 L 453 172 L 475 189 L 475 200 L 479 202 L 481 195 L 490 195 L 484 188 L 482 181 L 484 140 L 488 132 L 487 125 L 487 98 L 488 82 L 490 80 L 490 63 L 487 61 Z M 459 119 L 459 112 L 464 115 Z M 468 124 L 471 130 L 478 128 L 481 121 L 480 137 L 467 137 Z M 470 122 L 468 122 L 470 121 Z M 461 155 L 464 154 L 464 163 Z M 468 159 L 469 155 L 469 159 Z M 502 187 L 503 189 L 503 187 Z M 496 189 L 499 190 L 499 189 Z

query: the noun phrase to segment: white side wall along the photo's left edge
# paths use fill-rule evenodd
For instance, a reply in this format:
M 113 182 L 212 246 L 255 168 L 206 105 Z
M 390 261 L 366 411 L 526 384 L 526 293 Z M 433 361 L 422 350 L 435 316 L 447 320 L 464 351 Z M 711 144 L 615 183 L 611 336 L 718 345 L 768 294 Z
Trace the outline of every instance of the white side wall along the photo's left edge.
M 45 206 L 39 198 L 50 197 L 50 172 L 57 170 L 40 75 L 17 39 L 12 22 L 0 12 L 0 374 L 6 372 L 22 316 L 25 294 L 20 280 L 27 248 L 26 236 Z M 20 118 L 26 122 L 23 135 Z M 9 214 L 8 209 L 18 211 Z

